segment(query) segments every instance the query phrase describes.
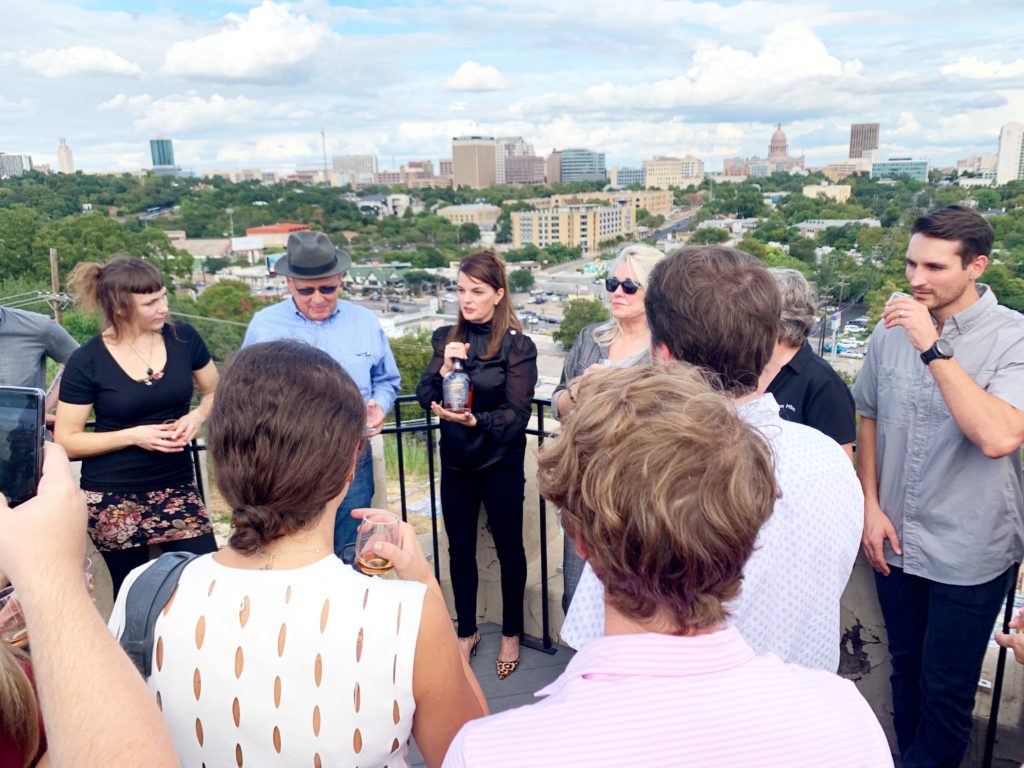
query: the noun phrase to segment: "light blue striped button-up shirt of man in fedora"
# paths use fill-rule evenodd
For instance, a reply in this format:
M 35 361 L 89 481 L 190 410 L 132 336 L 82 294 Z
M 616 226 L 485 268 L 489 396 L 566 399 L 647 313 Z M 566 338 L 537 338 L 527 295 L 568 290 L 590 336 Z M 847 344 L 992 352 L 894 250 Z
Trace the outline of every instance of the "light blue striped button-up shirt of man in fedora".
M 401 376 L 384 329 L 369 309 L 339 301 L 334 314 L 317 322 L 288 298 L 253 315 L 242 346 L 275 339 L 296 339 L 323 349 L 348 372 L 364 400 L 376 400 L 385 414 L 394 404 Z

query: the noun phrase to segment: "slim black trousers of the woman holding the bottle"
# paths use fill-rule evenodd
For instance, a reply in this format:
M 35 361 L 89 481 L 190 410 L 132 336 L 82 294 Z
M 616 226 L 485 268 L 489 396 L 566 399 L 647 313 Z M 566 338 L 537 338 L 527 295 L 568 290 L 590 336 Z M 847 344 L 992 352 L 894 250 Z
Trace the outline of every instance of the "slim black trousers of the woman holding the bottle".
M 476 632 L 476 529 L 482 502 L 502 570 L 502 634 L 522 633 L 526 552 L 522 547 L 525 454 L 506 456 L 483 469 L 441 466 L 441 516 L 449 537 L 452 591 L 459 637 Z

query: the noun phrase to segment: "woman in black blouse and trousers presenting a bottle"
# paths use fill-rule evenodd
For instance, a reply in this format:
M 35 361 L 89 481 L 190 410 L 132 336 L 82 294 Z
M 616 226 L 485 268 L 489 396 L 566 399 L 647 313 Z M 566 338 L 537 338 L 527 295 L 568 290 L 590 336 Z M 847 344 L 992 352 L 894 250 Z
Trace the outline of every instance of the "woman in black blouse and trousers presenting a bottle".
M 522 546 L 523 460 L 526 424 L 537 385 L 537 347 L 522 332 L 509 301 L 505 265 L 493 253 L 459 264 L 459 322 L 432 338 L 433 359 L 416 396 L 440 421 L 441 513 L 449 537 L 459 642 L 469 656 L 480 642 L 476 627 L 476 524 L 482 502 L 502 571 L 499 679 L 519 665 L 526 554 Z M 441 381 L 462 359 L 473 382 L 472 413 L 438 403 Z

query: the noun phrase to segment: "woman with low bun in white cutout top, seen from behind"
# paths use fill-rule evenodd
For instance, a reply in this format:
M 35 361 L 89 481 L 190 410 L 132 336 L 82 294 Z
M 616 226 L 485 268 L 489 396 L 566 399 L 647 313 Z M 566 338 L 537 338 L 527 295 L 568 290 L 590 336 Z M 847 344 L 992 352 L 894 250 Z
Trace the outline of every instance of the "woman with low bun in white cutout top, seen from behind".
M 397 580 L 334 554 L 366 412 L 348 374 L 308 344 L 254 344 L 228 362 L 207 445 L 231 536 L 182 570 L 147 681 L 184 766 L 400 768 L 410 734 L 439 766 L 485 713 L 415 529 L 400 524 L 400 548 L 380 545 Z M 119 635 L 127 591 L 111 618 Z

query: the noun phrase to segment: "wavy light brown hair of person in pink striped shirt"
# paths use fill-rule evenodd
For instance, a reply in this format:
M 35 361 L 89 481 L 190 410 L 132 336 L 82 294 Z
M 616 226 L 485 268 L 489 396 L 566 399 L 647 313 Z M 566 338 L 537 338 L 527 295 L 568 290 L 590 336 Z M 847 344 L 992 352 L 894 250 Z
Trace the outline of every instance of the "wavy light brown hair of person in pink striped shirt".
M 698 369 L 583 377 L 538 466 L 609 605 L 670 634 L 724 621 L 777 489 L 767 440 Z

